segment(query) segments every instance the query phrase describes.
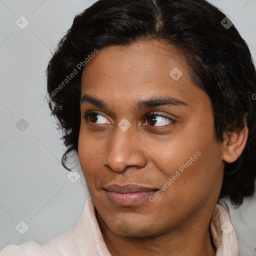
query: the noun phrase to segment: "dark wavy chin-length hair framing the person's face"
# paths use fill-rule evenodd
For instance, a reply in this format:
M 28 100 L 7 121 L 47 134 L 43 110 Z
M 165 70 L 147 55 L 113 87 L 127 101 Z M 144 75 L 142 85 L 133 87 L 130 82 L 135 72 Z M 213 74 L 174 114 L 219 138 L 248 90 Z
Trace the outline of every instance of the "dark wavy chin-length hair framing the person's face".
M 244 196 L 251 196 L 256 175 L 256 71 L 234 25 L 224 26 L 230 24 L 225 16 L 206 0 L 99 0 L 78 13 L 46 70 L 48 105 L 66 147 L 62 165 L 70 170 L 66 157 L 77 153 L 83 69 L 79 63 L 85 66 L 85 58 L 104 46 L 157 39 L 180 52 L 192 80 L 209 96 L 216 141 L 222 142 L 225 132 L 248 126 L 242 154 L 225 163 L 219 199 L 240 205 Z

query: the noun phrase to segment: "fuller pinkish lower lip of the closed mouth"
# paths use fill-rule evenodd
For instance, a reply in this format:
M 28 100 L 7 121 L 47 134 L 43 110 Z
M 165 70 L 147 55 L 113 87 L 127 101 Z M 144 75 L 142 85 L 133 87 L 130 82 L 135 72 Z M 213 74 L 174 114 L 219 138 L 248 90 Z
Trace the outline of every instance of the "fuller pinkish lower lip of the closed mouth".
M 154 194 L 156 191 L 138 191 L 131 193 L 118 193 L 114 191 L 106 191 L 107 196 L 110 200 L 118 205 L 128 206 L 135 204 L 145 198 L 148 198 L 151 194 Z

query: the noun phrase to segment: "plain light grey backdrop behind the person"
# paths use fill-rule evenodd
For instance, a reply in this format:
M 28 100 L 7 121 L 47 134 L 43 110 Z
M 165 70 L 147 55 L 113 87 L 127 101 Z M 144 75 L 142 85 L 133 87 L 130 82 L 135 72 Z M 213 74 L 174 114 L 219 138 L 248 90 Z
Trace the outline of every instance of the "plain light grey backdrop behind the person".
M 0 250 L 28 240 L 44 243 L 82 214 L 88 191 L 78 161 L 70 165 L 81 174 L 74 183 L 60 163 L 64 148 L 44 99 L 44 72 L 75 14 L 93 2 L 0 0 Z M 210 2 L 232 18 L 255 59 L 256 1 Z M 21 15 L 29 21 L 24 29 L 15 23 Z M 27 127 L 20 126 L 22 118 Z M 256 255 L 255 212 L 255 194 L 231 209 L 240 256 Z M 16 228 L 21 220 L 29 226 L 24 234 Z

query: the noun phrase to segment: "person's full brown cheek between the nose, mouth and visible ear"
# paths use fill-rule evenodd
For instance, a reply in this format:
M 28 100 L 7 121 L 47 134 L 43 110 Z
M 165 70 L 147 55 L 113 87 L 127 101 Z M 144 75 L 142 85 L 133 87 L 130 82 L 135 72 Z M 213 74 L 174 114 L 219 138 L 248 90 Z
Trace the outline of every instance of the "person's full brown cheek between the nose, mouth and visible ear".
M 215 200 L 221 188 L 222 146 L 213 139 L 213 121 L 198 123 L 192 123 L 168 140 L 158 141 L 159 146 L 154 147 L 157 156 L 153 157 L 154 165 L 161 170 L 162 185 L 169 178 L 172 182 L 165 199 L 172 198 L 173 203 L 206 203 Z

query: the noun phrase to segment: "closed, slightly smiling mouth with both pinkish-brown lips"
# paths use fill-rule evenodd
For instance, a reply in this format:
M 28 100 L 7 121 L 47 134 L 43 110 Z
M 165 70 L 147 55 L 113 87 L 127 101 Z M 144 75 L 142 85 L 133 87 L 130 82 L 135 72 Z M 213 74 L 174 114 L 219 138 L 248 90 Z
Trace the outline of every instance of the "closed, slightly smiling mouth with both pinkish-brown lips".
M 108 199 L 114 204 L 121 206 L 130 206 L 148 198 L 158 189 L 138 184 L 118 185 L 112 184 L 103 188 Z

